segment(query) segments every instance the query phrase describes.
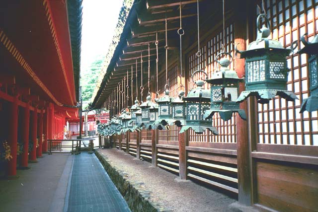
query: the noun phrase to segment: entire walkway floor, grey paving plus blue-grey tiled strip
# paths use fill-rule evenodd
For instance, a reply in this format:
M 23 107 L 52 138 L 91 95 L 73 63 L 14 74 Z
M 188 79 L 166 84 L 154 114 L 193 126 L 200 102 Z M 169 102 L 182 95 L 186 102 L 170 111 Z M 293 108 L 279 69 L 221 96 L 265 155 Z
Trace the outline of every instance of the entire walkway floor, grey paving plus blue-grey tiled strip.
M 94 154 L 45 154 L 0 179 L 0 212 L 130 212 Z

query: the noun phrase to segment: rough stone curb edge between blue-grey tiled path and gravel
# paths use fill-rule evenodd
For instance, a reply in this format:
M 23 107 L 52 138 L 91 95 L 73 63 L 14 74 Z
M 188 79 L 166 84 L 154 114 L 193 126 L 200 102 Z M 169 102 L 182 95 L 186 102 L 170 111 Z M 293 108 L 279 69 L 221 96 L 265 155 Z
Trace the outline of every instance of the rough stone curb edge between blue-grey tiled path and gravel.
M 95 151 L 95 155 L 126 200 L 130 210 L 133 212 L 171 212 L 171 210 L 151 200 L 151 192 L 145 190 L 144 183 L 131 181 L 126 172 L 112 166 L 111 160 L 98 150 Z

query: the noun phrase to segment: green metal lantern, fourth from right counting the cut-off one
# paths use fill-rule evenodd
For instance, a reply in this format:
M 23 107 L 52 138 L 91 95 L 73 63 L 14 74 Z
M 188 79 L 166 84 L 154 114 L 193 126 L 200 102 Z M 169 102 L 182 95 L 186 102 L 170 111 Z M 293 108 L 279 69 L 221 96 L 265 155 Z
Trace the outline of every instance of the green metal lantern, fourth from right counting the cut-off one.
M 193 80 L 193 75 L 197 72 L 203 72 L 206 76 L 207 73 L 201 70 L 194 71 L 191 75 Z M 211 131 L 214 135 L 219 135 L 215 127 L 212 127 L 212 119 L 204 119 L 203 116 L 205 112 L 210 109 L 210 90 L 204 89 L 204 81 L 199 79 L 195 82 L 196 88 L 189 91 L 183 100 L 186 101 L 186 124 L 182 126 L 179 133 L 184 133 L 186 130 L 191 128 L 196 134 L 203 134 L 205 130 Z

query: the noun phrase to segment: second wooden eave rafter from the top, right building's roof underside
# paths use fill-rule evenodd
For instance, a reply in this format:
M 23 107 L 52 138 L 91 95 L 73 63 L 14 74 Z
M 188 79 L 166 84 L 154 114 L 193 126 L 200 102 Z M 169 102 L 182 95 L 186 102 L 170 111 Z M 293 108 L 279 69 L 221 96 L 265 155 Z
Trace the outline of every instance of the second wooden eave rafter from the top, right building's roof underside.
M 192 11 L 189 11 L 189 10 L 182 11 L 182 18 L 196 16 L 196 15 L 197 15 L 196 13 L 193 13 Z M 165 13 L 152 14 L 152 13 L 146 12 L 140 15 L 138 22 L 140 25 L 146 25 L 146 24 L 163 22 L 165 21 L 165 18 L 167 18 L 168 21 L 179 19 L 180 13 L 178 10 L 173 12 L 167 12 L 166 15 Z

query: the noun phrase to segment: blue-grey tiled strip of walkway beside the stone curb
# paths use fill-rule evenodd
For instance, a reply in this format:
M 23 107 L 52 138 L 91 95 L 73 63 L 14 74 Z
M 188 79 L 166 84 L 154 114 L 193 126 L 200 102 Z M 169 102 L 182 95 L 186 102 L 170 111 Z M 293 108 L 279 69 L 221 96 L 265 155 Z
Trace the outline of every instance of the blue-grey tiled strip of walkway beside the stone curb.
M 94 154 L 75 155 L 65 210 L 69 212 L 130 212 Z

